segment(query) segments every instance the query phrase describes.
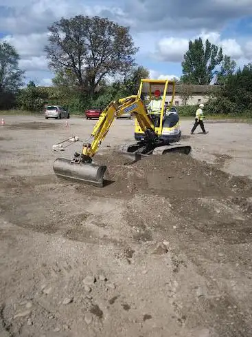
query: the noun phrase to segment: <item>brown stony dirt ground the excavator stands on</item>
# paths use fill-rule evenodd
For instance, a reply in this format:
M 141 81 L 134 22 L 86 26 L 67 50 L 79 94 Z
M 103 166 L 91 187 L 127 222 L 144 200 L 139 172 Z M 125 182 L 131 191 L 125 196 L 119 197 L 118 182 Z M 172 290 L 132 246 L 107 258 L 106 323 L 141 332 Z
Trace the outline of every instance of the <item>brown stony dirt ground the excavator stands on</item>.
M 183 121 L 192 155 L 131 164 L 117 120 L 100 188 L 52 170 L 82 143 L 52 145 L 95 124 L 69 122 L 0 127 L 0 336 L 251 337 L 252 125 Z

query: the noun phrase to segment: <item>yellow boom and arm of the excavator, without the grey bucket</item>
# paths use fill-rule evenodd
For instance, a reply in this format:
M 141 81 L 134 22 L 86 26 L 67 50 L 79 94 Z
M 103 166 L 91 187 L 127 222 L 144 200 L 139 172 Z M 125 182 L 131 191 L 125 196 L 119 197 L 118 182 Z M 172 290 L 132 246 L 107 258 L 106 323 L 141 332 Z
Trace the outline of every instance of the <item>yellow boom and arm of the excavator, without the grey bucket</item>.
M 146 133 L 146 137 L 155 138 L 154 125 L 148 116 L 144 102 L 137 96 L 128 96 L 124 99 L 111 102 L 100 115 L 98 123 L 96 123 L 93 132 L 87 144 L 82 147 L 82 159 L 91 161 L 100 147 L 102 141 L 106 137 L 115 117 L 119 117 L 124 112 L 130 112 L 135 115 L 141 129 Z

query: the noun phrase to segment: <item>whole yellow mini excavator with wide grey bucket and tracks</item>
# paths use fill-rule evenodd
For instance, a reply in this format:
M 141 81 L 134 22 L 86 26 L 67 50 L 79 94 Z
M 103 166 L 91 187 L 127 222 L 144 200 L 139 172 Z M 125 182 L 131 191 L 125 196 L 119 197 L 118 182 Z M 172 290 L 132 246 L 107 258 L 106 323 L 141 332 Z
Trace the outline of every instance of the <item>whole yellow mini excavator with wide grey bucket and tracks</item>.
M 168 106 L 165 101 L 170 86 L 172 91 Z M 161 93 L 158 102 L 154 98 L 157 91 Z M 54 161 L 53 169 L 56 176 L 103 187 L 107 167 L 93 163 L 93 156 L 98 152 L 113 121 L 122 114 L 135 116 L 136 142 L 119 147 L 119 152 L 129 156 L 133 161 L 143 156 L 162 155 L 168 152 L 190 154 L 191 146 L 179 143 L 181 140 L 179 114 L 172 112 L 171 109 L 174 94 L 174 81 L 142 79 L 137 95 L 108 104 L 95 124 L 89 141 L 82 144 L 81 153 L 76 152 L 73 159 L 58 158 Z M 154 105 L 156 110 L 153 112 L 151 107 Z

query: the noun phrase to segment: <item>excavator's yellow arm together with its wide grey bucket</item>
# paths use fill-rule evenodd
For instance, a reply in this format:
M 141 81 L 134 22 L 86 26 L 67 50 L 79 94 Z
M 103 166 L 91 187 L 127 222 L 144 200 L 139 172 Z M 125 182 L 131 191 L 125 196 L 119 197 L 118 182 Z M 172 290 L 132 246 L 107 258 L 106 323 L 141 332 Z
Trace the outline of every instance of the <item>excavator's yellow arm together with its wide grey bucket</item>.
M 92 158 L 98 152 L 98 148 L 106 137 L 115 117 L 124 112 L 135 115 L 141 129 L 144 130 L 148 144 L 157 139 L 157 134 L 154 132 L 154 123 L 148 116 L 144 102 L 138 96 L 133 95 L 113 101 L 100 115 L 100 119 L 93 128 L 87 143 L 82 145 L 82 153 L 76 152 L 72 160 L 58 158 L 54 161 L 53 168 L 56 176 L 102 187 L 106 166 L 92 163 Z

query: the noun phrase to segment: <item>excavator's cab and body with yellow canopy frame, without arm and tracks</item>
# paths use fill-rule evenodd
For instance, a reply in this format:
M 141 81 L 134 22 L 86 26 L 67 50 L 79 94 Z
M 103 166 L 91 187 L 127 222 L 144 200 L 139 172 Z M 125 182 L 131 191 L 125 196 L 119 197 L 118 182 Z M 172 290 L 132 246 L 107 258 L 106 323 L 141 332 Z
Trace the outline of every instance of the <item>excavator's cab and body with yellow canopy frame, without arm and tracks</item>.
M 174 95 L 174 81 L 152 79 L 142 79 L 137 94 L 144 101 L 148 116 L 154 124 L 154 131 L 164 145 L 178 142 L 181 139 L 179 115 L 170 112 Z M 167 101 L 170 102 L 169 105 L 165 103 Z M 144 137 L 144 130 L 135 119 L 135 140 L 141 141 Z

